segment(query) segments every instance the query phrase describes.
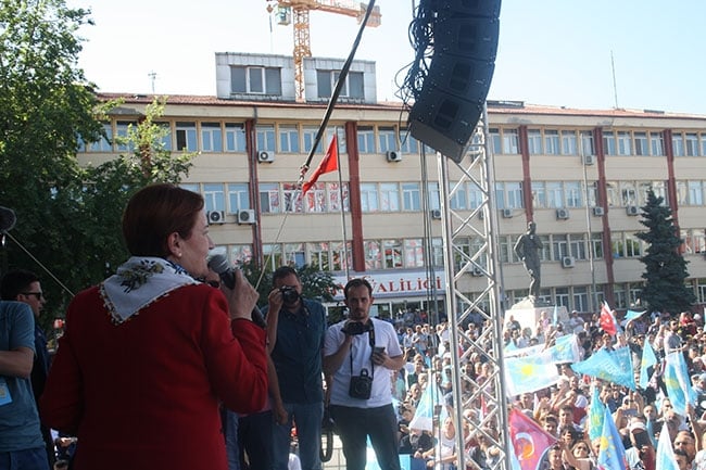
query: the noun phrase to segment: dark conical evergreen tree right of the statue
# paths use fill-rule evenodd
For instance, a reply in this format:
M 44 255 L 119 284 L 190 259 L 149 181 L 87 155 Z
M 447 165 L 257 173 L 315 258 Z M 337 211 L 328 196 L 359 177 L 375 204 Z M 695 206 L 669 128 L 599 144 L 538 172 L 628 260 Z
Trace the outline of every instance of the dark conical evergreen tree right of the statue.
M 645 265 L 642 278 L 646 280 L 640 293 L 643 306 L 652 312 L 679 314 L 689 310 L 696 297 L 684 284 L 689 277 L 686 262 L 679 253 L 683 240 L 671 217 L 671 208 L 663 205 L 664 198 L 647 191 L 647 204 L 642 208 L 640 223 L 647 228 L 636 233 L 648 244 L 646 254 L 640 258 Z

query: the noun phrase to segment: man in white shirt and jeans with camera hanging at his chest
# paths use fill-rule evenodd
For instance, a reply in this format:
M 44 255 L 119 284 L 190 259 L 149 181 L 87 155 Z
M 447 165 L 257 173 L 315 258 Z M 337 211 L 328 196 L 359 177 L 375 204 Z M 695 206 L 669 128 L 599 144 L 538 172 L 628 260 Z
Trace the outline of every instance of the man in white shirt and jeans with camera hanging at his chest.
M 391 371 L 404 365 L 394 327 L 369 317 L 373 288 L 351 279 L 343 289 L 349 319 L 331 326 L 324 344 L 324 373 L 332 376 L 330 411 L 348 470 L 364 470 L 366 443 L 382 470 L 400 470 L 398 418 Z

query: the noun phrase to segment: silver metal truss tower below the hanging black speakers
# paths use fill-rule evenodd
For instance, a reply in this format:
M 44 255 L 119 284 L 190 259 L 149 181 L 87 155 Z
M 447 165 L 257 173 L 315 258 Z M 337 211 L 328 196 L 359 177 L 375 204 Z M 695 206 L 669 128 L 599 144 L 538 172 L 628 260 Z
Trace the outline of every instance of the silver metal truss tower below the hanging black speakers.
M 494 469 L 509 469 L 513 449 L 508 437 L 503 368 L 497 211 L 493 211 L 495 175 L 487 138 L 488 110 L 483 109 L 471 144 L 459 163 L 437 154 L 446 275 L 445 312 L 451 323 L 451 351 L 463 351 L 462 355 L 451 355 L 453 403 L 462 404 L 453 408 L 454 421 L 466 421 L 471 435 L 484 435 L 487 442 L 496 447 L 499 461 Z M 450 167 L 450 162 L 455 168 Z M 450 183 L 452 169 L 453 183 Z M 468 191 L 468 186 L 482 194 L 479 206 L 470 212 L 466 208 L 454 209 L 450 202 L 456 194 Z M 462 291 L 464 281 L 467 285 L 471 276 L 474 279 L 484 279 L 481 292 L 470 294 Z M 465 289 L 468 291 L 468 288 Z M 463 325 L 478 316 L 484 325 L 477 335 L 472 335 Z M 461 367 L 475 354 L 483 357 L 489 365 L 489 376 L 482 383 L 476 382 Z M 475 410 L 475 417 L 466 417 L 466 410 Z M 489 431 L 489 428 L 496 430 L 496 433 Z M 456 425 L 456 448 L 465 448 L 462 427 Z M 465 453 L 459 454 L 459 469 L 480 469 L 475 461 L 468 461 Z

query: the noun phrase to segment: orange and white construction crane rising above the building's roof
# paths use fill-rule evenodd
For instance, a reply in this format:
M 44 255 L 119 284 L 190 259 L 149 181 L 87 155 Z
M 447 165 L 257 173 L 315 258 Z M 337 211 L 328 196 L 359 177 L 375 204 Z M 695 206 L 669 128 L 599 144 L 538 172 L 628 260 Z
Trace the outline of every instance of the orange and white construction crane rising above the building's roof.
M 368 5 L 353 0 L 267 0 L 267 12 L 276 10 L 277 23 L 289 26 L 294 22 L 294 88 L 298 102 L 304 102 L 304 58 L 312 56 L 311 40 L 308 35 L 308 12 L 318 10 L 354 16 L 358 24 L 365 17 Z M 380 26 L 380 8 L 375 7 L 367 26 Z

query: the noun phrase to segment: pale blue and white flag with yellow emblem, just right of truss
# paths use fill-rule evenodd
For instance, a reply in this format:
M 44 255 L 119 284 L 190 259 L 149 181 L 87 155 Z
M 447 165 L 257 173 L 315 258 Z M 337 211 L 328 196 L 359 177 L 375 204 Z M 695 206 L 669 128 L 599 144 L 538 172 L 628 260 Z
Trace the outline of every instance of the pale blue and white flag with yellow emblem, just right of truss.
M 505 360 L 507 396 L 537 392 L 556 384 L 559 373 L 544 355 L 510 357 Z

